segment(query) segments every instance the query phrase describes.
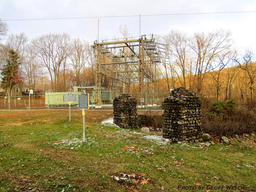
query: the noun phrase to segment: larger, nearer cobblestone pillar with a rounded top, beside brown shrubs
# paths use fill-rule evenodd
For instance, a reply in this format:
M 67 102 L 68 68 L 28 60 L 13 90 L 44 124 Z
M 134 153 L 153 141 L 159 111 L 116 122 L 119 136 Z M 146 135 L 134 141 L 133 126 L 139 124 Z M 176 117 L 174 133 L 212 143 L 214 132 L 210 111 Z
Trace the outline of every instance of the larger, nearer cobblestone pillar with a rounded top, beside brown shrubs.
M 172 90 L 162 102 L 163 138 L 172 142 L 198 143 L 203 134 L 200 101 L 199 96 L 183 87 Z

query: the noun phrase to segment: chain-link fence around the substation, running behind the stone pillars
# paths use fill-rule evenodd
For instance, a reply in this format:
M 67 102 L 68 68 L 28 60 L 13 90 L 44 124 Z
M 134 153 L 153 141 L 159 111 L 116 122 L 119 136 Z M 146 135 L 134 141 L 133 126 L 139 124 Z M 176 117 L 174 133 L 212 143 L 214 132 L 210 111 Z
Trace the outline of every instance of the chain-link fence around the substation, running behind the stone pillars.
M 81 92 L 72 92 L 77 95 L 76 102 L 71 102 L 72 109 L 78 109 L 78 95 Z M 24 109 L 68 109 L 69 103 L 63 102 L 63 93 L 46 93 L 44 95 L 31 95 L 31 96 L 0 96 L 0 110 L 24 110 Z M 122 95 L 118 93 L 116 96 Z M 144 102 L 139 103 L 140 93 L 130 93 L 138 101 L 138 106 L 143 108 L 160 106 L 164 99 L 169 96 L 169 92 L 154 92 L 144 93 Z M 97 95 L 89 94 L 90 109 L 95 109 Z M 111 108 L 114 95 L 111 91 L 101 95 L 102 108 Z M 153 105 L 154 104 L 154 105 Z

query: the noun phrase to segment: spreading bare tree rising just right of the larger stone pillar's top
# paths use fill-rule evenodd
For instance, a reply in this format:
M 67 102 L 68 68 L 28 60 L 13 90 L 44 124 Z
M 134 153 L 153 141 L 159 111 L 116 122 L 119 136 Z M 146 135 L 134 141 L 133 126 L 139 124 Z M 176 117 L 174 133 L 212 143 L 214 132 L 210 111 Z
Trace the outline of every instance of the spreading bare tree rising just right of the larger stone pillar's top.
M 195 33 L 190 40 L 190 47 L 196 58 L 197 91 L 202 95 L 202 82 L 212 69 L 215 60 L 227 52 L 232 45 L 231 32 L 222 29 L 204 33 Z

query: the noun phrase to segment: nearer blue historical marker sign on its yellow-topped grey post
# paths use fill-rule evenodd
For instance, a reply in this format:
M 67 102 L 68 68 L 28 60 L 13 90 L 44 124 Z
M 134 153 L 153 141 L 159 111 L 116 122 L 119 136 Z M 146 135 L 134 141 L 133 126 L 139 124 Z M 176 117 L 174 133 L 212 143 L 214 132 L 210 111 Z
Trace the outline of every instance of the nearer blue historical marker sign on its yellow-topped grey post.
M 82 110 L 82 141 L 85 142 L 85 110 L 89 109 L 89 94 L 86 94 L 84 90 L 82 91 L 82 94 L 78 96 L 78 108 Z

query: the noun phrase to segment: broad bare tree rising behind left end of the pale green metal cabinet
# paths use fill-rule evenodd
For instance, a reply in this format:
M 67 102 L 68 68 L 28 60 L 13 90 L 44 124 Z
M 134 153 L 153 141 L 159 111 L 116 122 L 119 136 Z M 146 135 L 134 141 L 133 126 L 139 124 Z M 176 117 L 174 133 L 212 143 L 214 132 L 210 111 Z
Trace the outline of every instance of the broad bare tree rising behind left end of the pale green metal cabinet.
M 32 44 L 34 53 L 41 58 L 49 71 L 52 91 L 59 92 L 60 75 L 66 70 L 66 59 L 70 54 L 70 35 L 66 33 L 44 34 L 33 39 Z

